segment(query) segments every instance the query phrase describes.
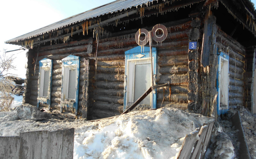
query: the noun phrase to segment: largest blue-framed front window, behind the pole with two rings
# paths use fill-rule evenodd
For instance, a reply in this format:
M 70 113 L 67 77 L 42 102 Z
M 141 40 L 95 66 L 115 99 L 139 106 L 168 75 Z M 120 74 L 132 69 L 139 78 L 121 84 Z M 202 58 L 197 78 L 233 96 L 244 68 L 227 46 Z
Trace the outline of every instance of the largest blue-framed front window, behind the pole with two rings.
M 152 48 L 153 73 L 157 74 L 157 51 Z M 149 47 L 135 47 L 125 52 L 124 110 L 131 106 L 151 86 L 151 64 Z M 156 108 L 156 90 L 139 104 Z

